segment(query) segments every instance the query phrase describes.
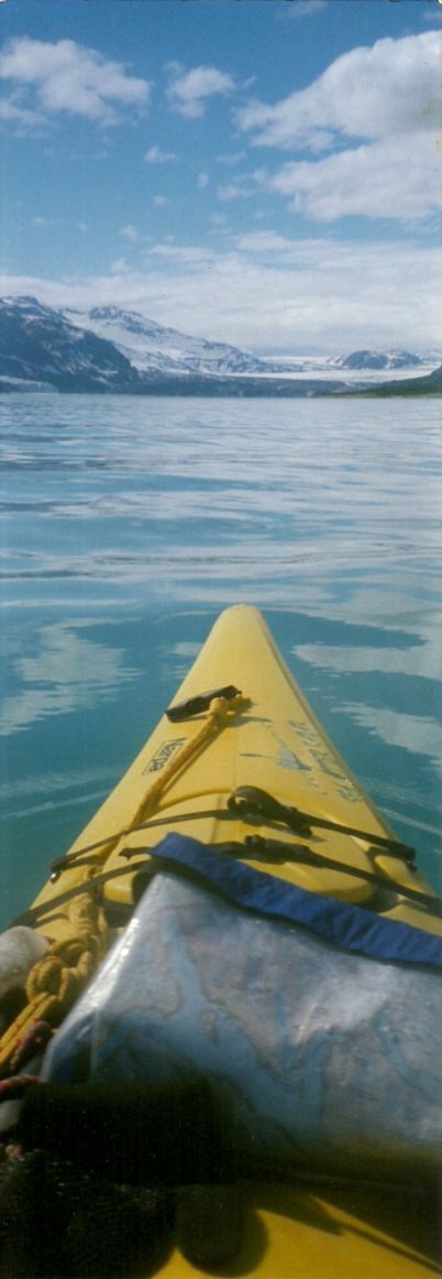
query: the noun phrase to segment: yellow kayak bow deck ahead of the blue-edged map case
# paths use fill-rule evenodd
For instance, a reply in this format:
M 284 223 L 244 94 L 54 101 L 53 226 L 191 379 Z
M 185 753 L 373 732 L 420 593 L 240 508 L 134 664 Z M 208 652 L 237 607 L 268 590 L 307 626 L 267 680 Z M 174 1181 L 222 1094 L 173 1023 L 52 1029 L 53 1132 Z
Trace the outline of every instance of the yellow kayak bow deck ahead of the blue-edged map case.
M 115 918 L 118 908 L 123 918 L 124 909 L 133 904 L 130 867 L 139 866 L 141 859 L 147 867 L 149 845 L 176 830 L 215 847 L 244 845 L 247 840 L 244 856 L 257 870 L 267 868 L 309 891 L 439 932 L 428 885 L 328 741 L 263 618 L 247 605 L 221 614 L 176 702 L 192 702 L 207 689 L 226 686 L 241 692 L 243 703 L 229 711 L 222 728 L 187 762 L 181 760 L 189 746 L 192 749 L 204 714 L 178 723 L 162 716 L 134 764 L 72 845 L 61 863 L 63 874 L 46 885 L 34 906 L 56 903 L 61 891 L 105 870 L 105 899 L 114 907 Z M 244 787 L 262 789 L 281 804 L 330 822 L 330 828 L 312 824 L 303 834 L 273 819 L 253 813 L 244 817 L 239 810 L 232 813 L 229 801 Z M 333 824 L 360 834 L 344 834 L 342 829 L 332 829 Z M 118 838 L 121 830 L 125 834 Z M 255 839 L 255 856 L 250 836 Z M 280 844 L 280 849 L 266 856 L 264 840 Z M 91 845 L 98 847 L 84 853 Z M 65 926 L 61 908 L 54 916 L 51 932 L 63 936 Z

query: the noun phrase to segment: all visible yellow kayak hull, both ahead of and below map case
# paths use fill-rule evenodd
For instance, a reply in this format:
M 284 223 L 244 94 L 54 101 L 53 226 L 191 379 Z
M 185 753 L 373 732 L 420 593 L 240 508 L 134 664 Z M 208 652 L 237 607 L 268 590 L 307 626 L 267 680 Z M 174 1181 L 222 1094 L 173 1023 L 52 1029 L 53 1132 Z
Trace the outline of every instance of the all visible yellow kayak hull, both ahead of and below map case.
M 194 753 L 192 746 L 190 755 L 187 751 L 204 714 L 178 723 L 161 719 L 73 844 L 65 868 L 36 899 L 42 911 L 37 927 L 55 939 L 69 932 L 69 903 L 60 899 L 91 874 L 109 875 L 107 906 L 116 916 L 124 913 L 133 899 L 134 862 L 143 858 L 148 865 L 146 849 L 178 830 L 212 845 L 243 843 L 250 834 L 309 845 L 317 854 L 314 865 L 295 856 L 267 865 L 250 854 L 248 865 L 339 900 L 372 909 L 381 904 L 385 917 L 441 932 L 431 889 L 409 866 L 401 845 L 396 851 L 393 843 L 382 848 L 376 842 L 393 842 L 393 833 L 328 741 L 253 608 L 235 606 L 218 618 L 176 701 L 225 686 L 235 686 L 243 702 Z M 229 798 L 243 787 L 261 788 L 281 804 L 359 834 L 312 826 L 303 836 L 281 831 L 266 817 L 231 815 Z M 326 1179 L 321 1184 L 313 1178 L 299 1184 L 250 1182 L 244 1193 L 245 1233 L 234 1261 L 215 1271 L 195 1270 L 175 1250 L 156 1271 L 161 1279 L 213 1273 L 253 1279 L 428 1279 L 434 1273 L 436 1232 L 419 1187 L 413 1193 L 410 1187 L 377 1189 Z

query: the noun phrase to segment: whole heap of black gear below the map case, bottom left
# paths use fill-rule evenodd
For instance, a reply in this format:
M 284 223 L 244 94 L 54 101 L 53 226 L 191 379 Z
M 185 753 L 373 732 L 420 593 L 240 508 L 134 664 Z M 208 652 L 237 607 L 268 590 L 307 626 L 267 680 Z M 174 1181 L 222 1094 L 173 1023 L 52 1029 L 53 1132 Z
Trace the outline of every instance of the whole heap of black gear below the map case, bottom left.
M 204 1082 L 34 1085 L 0 1165 L 0 1279 L 147 1279 L 234 1256 L 239 1187 Z

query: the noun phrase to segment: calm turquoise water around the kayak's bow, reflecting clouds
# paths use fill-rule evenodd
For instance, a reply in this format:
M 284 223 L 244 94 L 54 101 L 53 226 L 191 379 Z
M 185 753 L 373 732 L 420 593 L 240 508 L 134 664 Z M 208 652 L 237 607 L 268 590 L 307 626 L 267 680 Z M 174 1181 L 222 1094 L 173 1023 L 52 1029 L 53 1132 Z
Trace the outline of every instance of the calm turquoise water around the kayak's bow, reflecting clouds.
M 250 601 L 441 884 L 434 400 L 0 400 L 1 911 Z

